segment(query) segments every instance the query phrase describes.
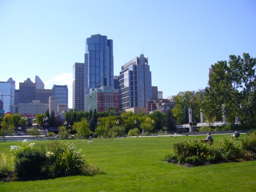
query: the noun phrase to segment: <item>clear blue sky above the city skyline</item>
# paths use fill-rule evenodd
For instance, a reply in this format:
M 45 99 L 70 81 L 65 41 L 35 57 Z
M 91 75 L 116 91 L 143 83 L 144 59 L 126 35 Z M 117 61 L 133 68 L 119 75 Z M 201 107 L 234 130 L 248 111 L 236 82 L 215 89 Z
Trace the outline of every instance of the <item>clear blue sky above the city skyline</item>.
M 143 52 L 164 98 L 204 89 L 211 64 L 256 57 L 255 10 L 256 0 L 0 0 L 0 81 L 68 85 L 72 108 L 72 66 L 101 34 L 113 40 L 114 75 Z

